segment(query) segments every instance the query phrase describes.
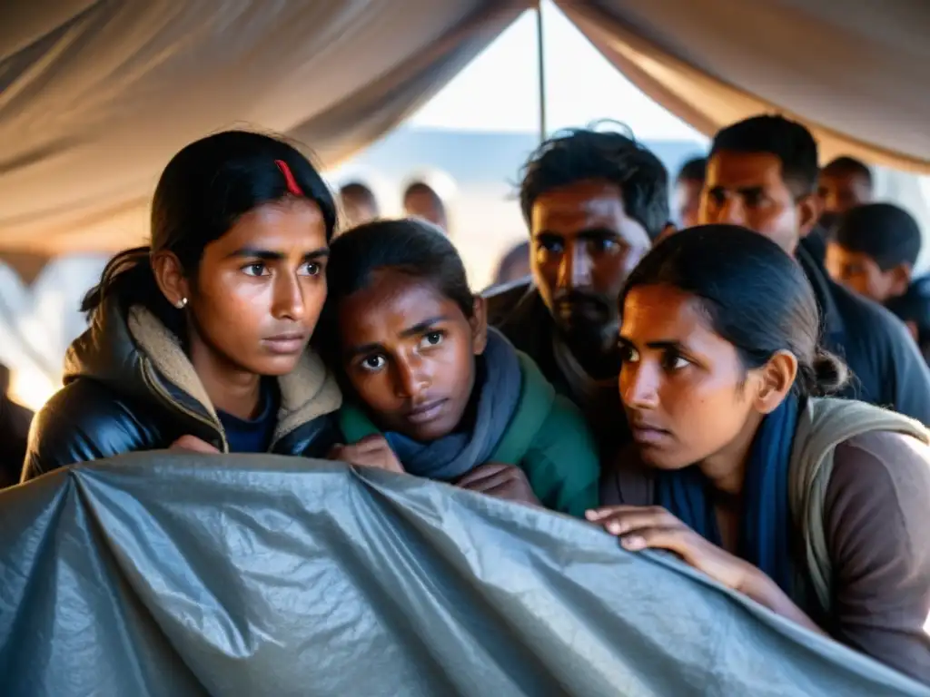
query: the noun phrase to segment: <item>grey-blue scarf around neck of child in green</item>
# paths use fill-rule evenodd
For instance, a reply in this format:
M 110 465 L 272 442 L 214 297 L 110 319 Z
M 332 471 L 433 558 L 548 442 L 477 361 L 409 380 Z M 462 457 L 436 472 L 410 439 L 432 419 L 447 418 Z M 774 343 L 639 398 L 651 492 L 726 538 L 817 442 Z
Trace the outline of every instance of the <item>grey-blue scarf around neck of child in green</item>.
M 523 375 L 516 350 L 496 329 L 477 359 L 471 423 L 438 441 L 421 443 L 399 433 L 385 438 L 407 472 L 431 480 L 454 481 L 484 465 L 498 447 L 520 402 Z

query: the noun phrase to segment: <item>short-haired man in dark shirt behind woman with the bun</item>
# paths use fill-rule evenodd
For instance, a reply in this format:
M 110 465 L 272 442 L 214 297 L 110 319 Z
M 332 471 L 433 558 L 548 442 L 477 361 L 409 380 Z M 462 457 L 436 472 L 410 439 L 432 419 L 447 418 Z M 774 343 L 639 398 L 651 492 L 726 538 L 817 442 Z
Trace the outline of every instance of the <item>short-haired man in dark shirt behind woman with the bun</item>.
M 930 371 L 905 326 L 880 305 L 833 282 L 801 239 L 817 223 L 817 142 L 804 125 L 755 116 L 713 139 L 702 223 L 755 230 L 795 256 L 817 296 L 825 348 L 855 379 L 842 397 L 870 401 L 930 424 Z

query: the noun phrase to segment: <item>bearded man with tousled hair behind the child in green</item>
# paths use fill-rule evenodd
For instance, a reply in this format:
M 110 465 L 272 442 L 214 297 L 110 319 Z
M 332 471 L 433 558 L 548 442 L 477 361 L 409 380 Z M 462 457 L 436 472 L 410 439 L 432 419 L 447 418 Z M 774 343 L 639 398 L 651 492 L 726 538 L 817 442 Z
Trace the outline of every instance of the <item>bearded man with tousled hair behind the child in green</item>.
M 619 132 L 556 134 L 530 155 L 520 204 L 533 282 L 488 293 L 488 320 L 578 404 L 613 454 L 624 428 L 618 296 L 669 223 L 668 173 Z

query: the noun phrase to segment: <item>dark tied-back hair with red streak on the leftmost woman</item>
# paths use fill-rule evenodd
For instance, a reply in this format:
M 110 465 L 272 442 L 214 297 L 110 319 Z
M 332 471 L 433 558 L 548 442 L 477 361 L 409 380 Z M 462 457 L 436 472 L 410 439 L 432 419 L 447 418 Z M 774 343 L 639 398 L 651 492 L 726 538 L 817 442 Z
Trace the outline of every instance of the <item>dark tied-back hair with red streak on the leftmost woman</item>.
M 81 311 L 92 316 L 106 297 L 116 296 L 124 307 L 150 309 L 180 334 L 181 315 L 155 283 L 151 256 L 173 252 L 185 273 L 195 277 L 206 245 L 228 232 L 239 217 L 294 195 L 285 169 L 299 191 L 320 207 L 328 241 L 336 229 L 336 204 L 307 157 L 279 138 L 224 131 L 194 141 L 171 158 L 155 188 L 151 244 L 114 256 Z

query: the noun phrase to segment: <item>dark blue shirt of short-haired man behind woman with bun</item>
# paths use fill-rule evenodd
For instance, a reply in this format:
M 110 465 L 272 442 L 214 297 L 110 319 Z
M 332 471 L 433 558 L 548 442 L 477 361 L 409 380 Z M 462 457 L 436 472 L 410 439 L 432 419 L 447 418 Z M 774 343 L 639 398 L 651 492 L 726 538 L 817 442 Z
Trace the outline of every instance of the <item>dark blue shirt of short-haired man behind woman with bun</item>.
M 930 370 L 907 327 L 878 303 L 833 282 L 801 244 L 797 258 L 814 288 L 826 349 L 853 377 L 838 397 L 868 401 L 930 425 Z

